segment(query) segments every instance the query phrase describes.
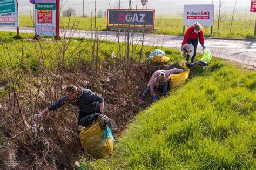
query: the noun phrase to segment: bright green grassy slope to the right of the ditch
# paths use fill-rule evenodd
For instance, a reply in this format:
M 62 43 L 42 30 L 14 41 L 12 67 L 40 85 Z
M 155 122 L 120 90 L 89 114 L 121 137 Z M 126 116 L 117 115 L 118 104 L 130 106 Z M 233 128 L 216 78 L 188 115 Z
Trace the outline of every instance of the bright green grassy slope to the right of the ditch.
M 141 112 L 113 157 L 83 167 L 255 169 L 255 87 L 255 72 L 215 60 Z

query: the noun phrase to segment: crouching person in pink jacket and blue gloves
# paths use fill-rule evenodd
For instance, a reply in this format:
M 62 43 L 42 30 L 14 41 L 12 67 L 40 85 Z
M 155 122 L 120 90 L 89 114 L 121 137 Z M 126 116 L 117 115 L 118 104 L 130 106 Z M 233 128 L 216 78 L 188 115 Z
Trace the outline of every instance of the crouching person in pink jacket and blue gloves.
M 152 96 L 152 101 L 156 101 L 157 100 L 157 97 L 156 97 L 156 93 L 154 93 L 154 88 L 158 88 L 158 87 L 161 87 L 161 90 L 163 92 L 164 95 L 167 95 L 167 91 L 168 91 L 168 84 L 169 84 L 169 81 L 170 81 L 170 75 L 173 74 L 173 73 L 181 73 L 181 72 L 184 72 L 186 71 L 187 69 L 185 70 L 182 70 L 182 69 L 170 69 L 170 70 L 157 70 L 153 73 L 149 83 L 147 83 L 147 87 L 146 89 L 144 89 L 142 91 L 142 94 L 140 94 L 140 97 L 139 97 L 139 101 L 141 101 L 147 93 L 151 93 L 151 96 Z

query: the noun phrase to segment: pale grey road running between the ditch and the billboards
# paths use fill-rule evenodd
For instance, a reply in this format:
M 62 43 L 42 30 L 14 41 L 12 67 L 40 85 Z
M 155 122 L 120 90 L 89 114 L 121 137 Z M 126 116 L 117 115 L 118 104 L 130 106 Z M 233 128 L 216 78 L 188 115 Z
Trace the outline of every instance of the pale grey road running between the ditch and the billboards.
M 16 32 L 16 28 L 1 27 L 0 31 L 12 31 Z M 22 33 L 33 33 L 33 28 L 19 28 Z M 60 36 L 63 37 L 84 37 L 91 38 L 91 31 L 70 31 L 60 30 Z M 101 40 L 111 40 L 117 42 L 117 33 L 113 31 L 100 31 L 97 36 Z M 133 43 L 142 43 L 142 33 L 134 33 Z M 124 41 L 124 33 L 120 33 L 119 40 Z M 158 47 L 171 47 L 174 49 L 180 49 L 183 36 L 172 35 L 153 35 L 146 34 L 144 39 L 144 45 L 154 45 Z M 211 50 L 213 56 L 225 58 L 238 62 L 244 67 L 256 68 L 256 40 L 231 40 L 231 39 L 214 39 L 205 38 L 205 46 Z M 198 52 L 202 52 L 200 45 L 198 46 Z M 171 57 L 171 56 L 169 56 Z

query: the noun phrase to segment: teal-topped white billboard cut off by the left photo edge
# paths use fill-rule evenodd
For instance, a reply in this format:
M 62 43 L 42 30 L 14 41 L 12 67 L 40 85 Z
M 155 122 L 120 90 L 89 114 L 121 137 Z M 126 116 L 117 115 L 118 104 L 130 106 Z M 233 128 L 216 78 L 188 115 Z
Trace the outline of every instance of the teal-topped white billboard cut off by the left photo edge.
M 17 0 L 0 0 L 0 26 L 19 26 Z

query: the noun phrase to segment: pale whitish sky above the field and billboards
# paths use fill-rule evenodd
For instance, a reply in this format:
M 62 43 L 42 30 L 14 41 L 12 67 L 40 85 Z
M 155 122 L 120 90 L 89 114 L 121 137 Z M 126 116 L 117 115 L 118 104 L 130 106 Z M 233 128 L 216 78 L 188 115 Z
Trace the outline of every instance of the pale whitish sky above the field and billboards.
M 72 6 L 76 10 L 77 16 L 82 16 L 83 14 L 83 0 L 61 0 L 62 9 Z M 28 15 L 30 11 L 32 13 L 32 4 L 29 0 L 18 0 L 19 2 L 19 14 Z M 85 2 L 85 14 L 91 15 L 94 12 L 93 0 L 84 0 Z M 132 8 L 142 9 L 142 4 L 140 0 L 131 0 Z M 202 3 L 203 2 L 203 3 Z M 215 10 L 218 8 L 219 0 L 148 0 L 147 9 L 156 9 L 156 15 L 182 15 L 184 4 L 213 4 L 215 5 Z M 224 0 L 224 9 L 227 12 L 231 12 L 234 8 L 235 0 Z M 129 5 L 129 0 L 120 0 L 120 8 L 127 9 Z M 237 0 L 237 10 L 239 13 L 250 13 L 251 0 Z M 118 0 L 96 0 L 97 11 L 105 11 L 110 8 L 116 8 L 118 6 Z

